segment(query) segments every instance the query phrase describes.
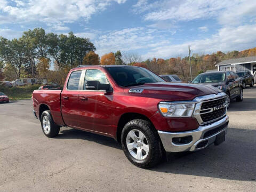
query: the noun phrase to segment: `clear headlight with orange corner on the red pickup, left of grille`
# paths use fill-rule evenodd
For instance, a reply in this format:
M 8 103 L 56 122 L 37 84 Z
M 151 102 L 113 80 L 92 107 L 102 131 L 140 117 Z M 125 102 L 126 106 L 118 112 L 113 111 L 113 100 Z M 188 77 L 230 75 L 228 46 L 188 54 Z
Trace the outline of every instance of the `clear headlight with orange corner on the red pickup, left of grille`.
M 158 105 L 159 111 L 165 117 L 191 117 L 195 108 L 195 103 L 167 103 Z

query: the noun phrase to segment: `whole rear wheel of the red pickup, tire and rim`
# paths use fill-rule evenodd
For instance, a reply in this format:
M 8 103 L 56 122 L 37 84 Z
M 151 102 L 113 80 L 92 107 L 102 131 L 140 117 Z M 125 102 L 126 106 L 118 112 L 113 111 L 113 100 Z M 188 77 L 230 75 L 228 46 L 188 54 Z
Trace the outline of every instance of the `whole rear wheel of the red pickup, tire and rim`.
M 42 113 L 41 126 L 46 137 L 52 138 L 59 134 L 60 127 L 54 123 L 50 110 Z

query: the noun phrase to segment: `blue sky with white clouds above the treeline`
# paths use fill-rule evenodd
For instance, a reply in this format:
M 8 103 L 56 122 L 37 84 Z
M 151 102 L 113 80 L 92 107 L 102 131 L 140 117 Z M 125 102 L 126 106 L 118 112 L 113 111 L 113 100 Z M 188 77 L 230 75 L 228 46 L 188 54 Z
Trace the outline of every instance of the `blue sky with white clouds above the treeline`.
M 0 36 L 43 27 L 90 38 L 101 56 L 143 59 L 244 50 L 256 46 L 255 0 L 0 0 Z

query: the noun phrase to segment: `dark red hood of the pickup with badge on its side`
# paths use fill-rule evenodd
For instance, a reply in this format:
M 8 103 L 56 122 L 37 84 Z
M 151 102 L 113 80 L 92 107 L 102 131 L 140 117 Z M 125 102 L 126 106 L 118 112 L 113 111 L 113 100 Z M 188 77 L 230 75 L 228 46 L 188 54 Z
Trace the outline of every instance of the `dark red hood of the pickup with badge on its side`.
M 159 82 L 129 87 L 125 92 L 139 97 L 151 97 L 165 101 L 186 101 L 202 95 L 218 94 L 222 91 L 211 85 Z

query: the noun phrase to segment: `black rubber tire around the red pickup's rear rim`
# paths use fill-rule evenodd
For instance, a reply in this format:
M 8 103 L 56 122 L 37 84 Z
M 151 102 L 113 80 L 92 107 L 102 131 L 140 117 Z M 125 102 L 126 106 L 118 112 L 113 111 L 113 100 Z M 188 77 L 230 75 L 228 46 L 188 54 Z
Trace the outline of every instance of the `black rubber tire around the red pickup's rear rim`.
M 50 129 L 48 131 L 46 131 L 44 129 L 44 125 L 43 125 L 44 116 L 45 116 L 46 119 L 49 119 Z M 55 137 L 59 134 L 60 126 L 58 126 L 54 123 L 50 110 L 45 110 L 42 113 L 40 120 L 41 120 L 42 131 L 43 131 L 43 133 L 45 134 L 46 137 L 52 138 L 52 137 Z

